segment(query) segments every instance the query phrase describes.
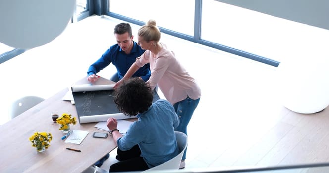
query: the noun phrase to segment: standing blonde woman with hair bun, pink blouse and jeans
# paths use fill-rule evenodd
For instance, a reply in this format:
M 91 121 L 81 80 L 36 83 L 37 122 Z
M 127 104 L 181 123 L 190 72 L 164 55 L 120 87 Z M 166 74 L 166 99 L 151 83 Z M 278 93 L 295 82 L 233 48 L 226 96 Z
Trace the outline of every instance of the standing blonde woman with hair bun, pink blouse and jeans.
M 150 83 L 152 89 L 158 85 L 165 98 L 174 106 L 180 121 L 175 130 L 187 134 L 187 125 L 198 106 L 201 89 L 195 79 L 178 62 L 175 54 L 168 50 L 165 44 L 159 43 L 160 36 L 160 30 L 154 20 L 149 20 L 138 30 L 138 44 L 146 51 L 136 58 L 114 88 L 129 79 L 139 68 L 150 63 L 151 77 L 147 82 Z M 181 168 L 185 167 L 185 158 L 186 151 L 182 158 Z

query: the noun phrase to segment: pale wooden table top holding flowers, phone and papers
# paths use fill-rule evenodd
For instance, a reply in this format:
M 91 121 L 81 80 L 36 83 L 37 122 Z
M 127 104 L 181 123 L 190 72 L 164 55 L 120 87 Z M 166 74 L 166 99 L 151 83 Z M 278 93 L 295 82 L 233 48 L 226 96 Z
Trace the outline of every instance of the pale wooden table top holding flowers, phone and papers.
M 77 84 L 87 83 L 85 77 L 77 82 Z M 113 84 L 113 82 L 101 77 L 95 85 L 100 84 Z M 62 100 L 67 91 L 67 88 L 63 89 L 0 126 L 1 173 L 80 173 L 116 148 L 116 142 L 110 135 L 106 139 L 92 137 L 94 131 L 104 132 L 94 127 L 96 122 L 79 124 L 78 121 L 76 125 L 71 124 L 71 130 L 89 131 L 80 145 L 61 140 L 64 133 L 59 130 L 59 124 L 53 123 L 51 112 L 69 113 L 78 120 L 75 106 L 70 101 Z M 47 132 L 53 135 L 51 146 L 46 151 L 38 153 L 36 148 L 31 146 L 29 137 L 34 132 Z M 81 152 L 66 148 L 78 149 Z

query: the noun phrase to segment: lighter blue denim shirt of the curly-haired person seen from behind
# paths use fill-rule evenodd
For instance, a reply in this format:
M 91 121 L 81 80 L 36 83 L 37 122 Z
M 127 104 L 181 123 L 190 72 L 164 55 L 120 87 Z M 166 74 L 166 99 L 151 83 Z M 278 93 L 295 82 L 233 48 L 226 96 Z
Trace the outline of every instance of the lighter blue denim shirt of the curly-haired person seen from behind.
M 116 141 L 120 150 L 126 151 L 138 144 L 141 157 L 150 168 L 178 155 L 174 128 L 178 126 L 179 119 L 168 101 L 157 100 L 137 117 L 127 133 Z

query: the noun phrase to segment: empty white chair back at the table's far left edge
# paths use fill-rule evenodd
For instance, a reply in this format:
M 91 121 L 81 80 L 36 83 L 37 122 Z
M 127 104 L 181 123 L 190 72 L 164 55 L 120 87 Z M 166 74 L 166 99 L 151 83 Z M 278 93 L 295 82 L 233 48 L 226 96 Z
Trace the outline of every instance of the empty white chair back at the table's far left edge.
M 9 117 L 10 119 L 15 118 L 21 113 L 27 111 L 38 103 L 44 101 L 45 99 L 37 96 L 25 96 L 20 99 L 17 99 L 13 103 L 11 103 L 9 107 Z

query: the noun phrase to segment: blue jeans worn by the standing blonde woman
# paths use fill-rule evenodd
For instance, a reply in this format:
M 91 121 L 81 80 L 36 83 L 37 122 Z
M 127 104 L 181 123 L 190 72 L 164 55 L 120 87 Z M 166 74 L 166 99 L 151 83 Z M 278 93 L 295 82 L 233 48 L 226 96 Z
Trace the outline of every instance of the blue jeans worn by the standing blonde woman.
M 177 102 L 173 105 L 179 118 L 179 125 L 175 129 L 176 131 L 183 132 L 187 135 L 187 125 L 190 122 L 195 108 L 198 106 L 200 98 L 193 100 L 187 97 L 185 100 Z M 187 148 L 186 148 L 187 150 Z M 186 150 L 183 154 L 182 160 L 186 158 Z

